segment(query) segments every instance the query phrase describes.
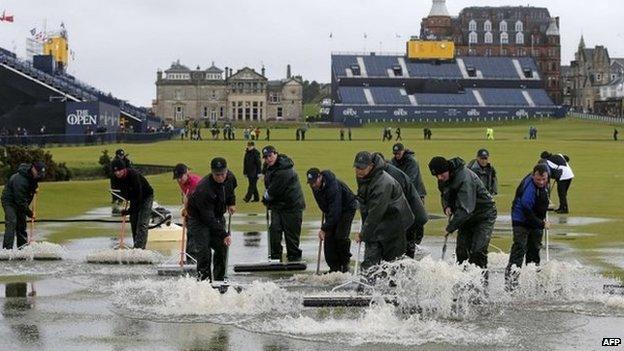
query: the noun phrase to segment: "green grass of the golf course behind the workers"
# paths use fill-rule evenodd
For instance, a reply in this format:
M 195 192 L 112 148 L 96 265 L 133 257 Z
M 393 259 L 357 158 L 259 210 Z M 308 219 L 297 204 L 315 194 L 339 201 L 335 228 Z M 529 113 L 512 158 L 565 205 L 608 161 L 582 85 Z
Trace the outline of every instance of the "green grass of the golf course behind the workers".
M 513 192 L 526 175 L 539 154 L 543 150 L 563 152 L 570 156 L 575 179 L 569 193 L 569 202 L 574 216 L 593 216 L 612 218 L 613 222 L 588 225 L 575 228 L 576 231 L 595 233 L 591 237 L 579 237 L 566 240 L 566 244 L 580 249 L 592 249 L 605 246 L 624 246 L 622 230 L 623 221 L 620 197 L 624 194 L 624 144 L 611 139 L 612 127 L 579 120 L 532 121 L 538 132 L 538 140 L 526 140 L 527 122 L 513 122 L 509 125 L 496 125 L 495 140 L 485 139 L 485 125 L 468 125 L 450 128 L 448 125 L 433 127 L 433 140 L 422 140 L 420 126 L 413 128 L 403 126 L 404 144 L 416 152 L 420 161 L 421 172 L 428 196 L 427 209 L 432 213 L 440 213 L 439 194 L 435 179 L 429 175 L 427 163 L 431 157 L 443 155 L 447 157 L 461 156 L 469 161 L 477 149 L 485 147 L 492 155 L 499 176 L 499 192 L 496 197 L 499 213 L 510 211 Z M 442 128 L 444 127 L 444 128 Z M 305 142 L 294 141 L 294 129 L 274 129 L 271 144 L 280 152 L 292 157 L 301 180 L 310 167 L 331 169 L 355 189 L 355 176 L 352 163 L 355 154 L 360 150 L 381 151 L 391 156 L 391 142 L 381 142 L 382 125 L 368 125 L 365 128 L 353 128 L 352 142 L 340 142 L 338 129 L 314 128 L 306 134 Z M 238 133 L 240 134 L 240 133 Z M 205 133 L 204 135 L 209 135 Z M 264 137 L 264 131 L 263 135 Z M 240 135 L 239 135 L 240 137 Z M 264 141 L 258 142 L 265 145 Z M 50 149 L 54 159 L 67 162 L 68 166 L 94 167 L 101 150 L 108 148 L 114 151 L 123 147 L 130 158 L 137 163 L 175 165 L 183 162 L 201 175 L 208 172 L 210 159 L 216 156 L 225 157 L 231 170 L 237 175 L 239 187 L 238 199 L 242 199 L 247 181 L 242 176 L 242 163 L 245 142 L 236 141 L 165 141 L 155 144 L 129 144 L 88 147 L 57 147 Z M 177 184 L 170 174 L 148 177 L 156 192 L 156 200 L 163 204 L 178 204 L 180 195 Z M 261 183 L 261 182 L 260 182 Z M 306 195 L 307 209 L 305 219 L 317 218 L 320 215 L 311 191 L 302 182 Z M 39 201 L 40 218 L 62 218 L 83 214 L 94 208 L 107 206 L 110 196 L 107 180 L 72 181 L 66 183 L 41 184 Z M 262 190 L 263 186 L 260 184 Z M 557 203 L 556 195 L 553 200 Z M 238 203 L 240 212 L 263 213 L 262 205 Z M 433 221 L 426 228 L 427 235 L 439 235 L 443 221 Z M 68 236 L 77 237 L 74 230 L 68 230 Z M 55 240 L 62 240 L 62 234 L 56 234 Z M 554 240 L 563 240 L 554 238 Z M 504 250 L 509 249 L 509 237 L 496 240 L 496 245 Z M 584 255 L 581 251 L 581 255 Z M 596 263 L 589 253 L 583 258 Z M 599 262 L 598 262 L 599 263 Z M 624 273 L 613 267 L 602 264 L 602 267 L 615 274 Z

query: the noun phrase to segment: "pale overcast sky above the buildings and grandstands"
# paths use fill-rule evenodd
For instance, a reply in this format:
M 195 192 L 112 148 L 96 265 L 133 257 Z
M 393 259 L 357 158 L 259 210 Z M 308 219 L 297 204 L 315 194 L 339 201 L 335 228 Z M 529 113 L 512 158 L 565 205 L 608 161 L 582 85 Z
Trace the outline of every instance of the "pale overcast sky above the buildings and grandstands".
M 563 64 L 573 59 L 581 33 L 588 46 L 605 45 L 611 57 L 624 57 L 623 1 L 529 4 L 561 17 Z M 447 0 L 452 16 L 474 5 L 528 4 Z M 0 22 L 0 46 L 24 57 L 32 28 L 45 20 L 53 30 L 64 22 L 75 52 L 71 74 L 149 106 L 157 69 L 176 59 L 202 69 L 212 61 L 235 70 L 264 63 L 270 79 L 283 78 L 290 63 L 304 79 L 329 82 L 331 52 L 402 51 L 430 8 L 431 0 L 0 0 L 0 11 L 15 16 L 12 24 Z

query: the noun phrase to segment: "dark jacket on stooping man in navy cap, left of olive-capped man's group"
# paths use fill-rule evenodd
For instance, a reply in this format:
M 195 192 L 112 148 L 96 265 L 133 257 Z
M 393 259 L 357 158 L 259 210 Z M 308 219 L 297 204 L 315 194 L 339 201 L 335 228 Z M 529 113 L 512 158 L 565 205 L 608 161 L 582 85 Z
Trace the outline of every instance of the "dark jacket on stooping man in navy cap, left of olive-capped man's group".
M 336 178 L 331 171 L 322 171 L 323 183 L 318 190 L 312 189 L 314 199 L 325 214 L 323 231 L 333 230 L 343 213 L 353 213 L 357 209 L 355 195 L 349 186 Z

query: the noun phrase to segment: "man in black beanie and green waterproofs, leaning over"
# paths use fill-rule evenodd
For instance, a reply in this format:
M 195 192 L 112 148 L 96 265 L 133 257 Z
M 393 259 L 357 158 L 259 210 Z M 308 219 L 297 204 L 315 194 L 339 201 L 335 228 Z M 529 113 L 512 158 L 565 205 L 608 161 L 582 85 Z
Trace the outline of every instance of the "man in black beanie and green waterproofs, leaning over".
M 436 156 L 429 162 L 438 180 L 444 214 L 450 217 L 446 235 L 458 231 L 455 255 L 458 263 L 468 261 L 487 268 L 488 245 L 496 221 L 496 204 L 479 177 L 459 157 Z M 487 282 L 487 271 L 484 273 Z

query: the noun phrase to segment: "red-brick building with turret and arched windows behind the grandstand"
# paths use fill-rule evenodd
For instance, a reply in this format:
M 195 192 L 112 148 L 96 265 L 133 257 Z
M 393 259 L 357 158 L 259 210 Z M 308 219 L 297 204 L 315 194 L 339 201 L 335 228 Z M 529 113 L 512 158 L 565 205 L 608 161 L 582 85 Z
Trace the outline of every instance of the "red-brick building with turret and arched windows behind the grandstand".
M 420 38 L 451 40 L 457 56 L 533 57 L 549 96 L 562 102 L 559 18 L 546 8 L 467 7 L 453 17 L 445 0 L 433 0 L 422 19 Z

